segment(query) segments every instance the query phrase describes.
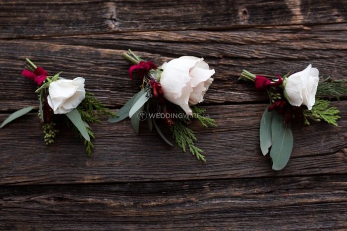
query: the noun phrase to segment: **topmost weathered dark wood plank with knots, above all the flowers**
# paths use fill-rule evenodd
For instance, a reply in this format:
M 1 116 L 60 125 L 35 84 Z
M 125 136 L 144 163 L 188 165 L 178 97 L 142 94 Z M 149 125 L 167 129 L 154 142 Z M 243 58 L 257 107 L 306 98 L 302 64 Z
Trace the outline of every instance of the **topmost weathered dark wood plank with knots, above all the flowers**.
M 341 23 L 344 0 L 7 0 L 0 38 Z

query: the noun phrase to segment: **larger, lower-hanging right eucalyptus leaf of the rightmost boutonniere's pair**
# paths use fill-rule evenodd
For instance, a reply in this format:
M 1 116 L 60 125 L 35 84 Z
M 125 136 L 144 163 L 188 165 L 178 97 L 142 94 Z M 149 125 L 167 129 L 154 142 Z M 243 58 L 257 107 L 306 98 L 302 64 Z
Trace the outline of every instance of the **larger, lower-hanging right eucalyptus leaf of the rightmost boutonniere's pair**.
M 270 157 L 272 169 L 282 170 L 286 167 L 293 148 L 293 134 L 289 126 L 286 126 L 284 116 L 274 113 L 272 120 L 272 132 L 276 134 L 272 139 Z

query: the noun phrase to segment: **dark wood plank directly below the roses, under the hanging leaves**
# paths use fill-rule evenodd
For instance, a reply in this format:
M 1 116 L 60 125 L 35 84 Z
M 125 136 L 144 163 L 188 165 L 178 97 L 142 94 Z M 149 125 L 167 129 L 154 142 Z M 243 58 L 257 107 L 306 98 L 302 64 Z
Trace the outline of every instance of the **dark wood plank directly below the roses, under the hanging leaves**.
M 60 128 L 56 143 L 45 146 L 35 114 L 24 116 L 0 130 L 0 184 L 53 184 L 183 180 L 347 173 L 347 101 L 340 126 L 293 124 L 294 148 L 289 165 L 271 170 L 269 157 L 259 148 L 259 122 L 265 104 L 209 106 L 218 127 L 197 123 L 197 146 L 207 163 L 178 147 L 170 147 L 156 132 L 143 127 L 133 132 L 129 120 L 93 126 L 97 136 L 92 158 L 82 141 Z M 2 121 L 8 114 L 0 114 Z

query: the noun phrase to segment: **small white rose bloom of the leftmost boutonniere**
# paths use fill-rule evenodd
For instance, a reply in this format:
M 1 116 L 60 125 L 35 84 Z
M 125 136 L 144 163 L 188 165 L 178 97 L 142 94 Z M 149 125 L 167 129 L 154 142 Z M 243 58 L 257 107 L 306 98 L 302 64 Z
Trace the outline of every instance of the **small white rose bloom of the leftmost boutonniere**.
M 54 114 L 69 113 L 77 108 L 86 96 L 84 78 L 58 79 L 50 84 L 48 92 L 48 104 Z

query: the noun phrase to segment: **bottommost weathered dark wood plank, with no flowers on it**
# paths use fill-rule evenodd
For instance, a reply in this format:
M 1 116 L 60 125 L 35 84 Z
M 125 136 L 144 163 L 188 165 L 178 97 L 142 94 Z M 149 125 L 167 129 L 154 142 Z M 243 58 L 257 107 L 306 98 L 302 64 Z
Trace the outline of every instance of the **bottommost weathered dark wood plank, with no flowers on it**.
M 1 230 L 347 229 L 347 176 L 0 187 Z

